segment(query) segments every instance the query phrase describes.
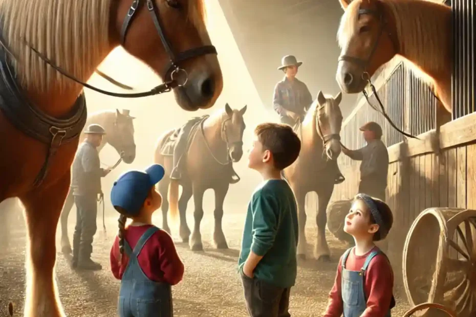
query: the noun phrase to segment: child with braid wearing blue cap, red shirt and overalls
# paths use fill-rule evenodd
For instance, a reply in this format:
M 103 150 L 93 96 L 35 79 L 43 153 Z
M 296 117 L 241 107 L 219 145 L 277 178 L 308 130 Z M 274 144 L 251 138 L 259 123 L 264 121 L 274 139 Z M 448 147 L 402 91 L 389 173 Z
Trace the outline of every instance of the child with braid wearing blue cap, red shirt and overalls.
M 121 280 L 121 317 L 173 316 L 171 285 L 182 280 L 184 266 L 172 238 L 152 224 L 162 204 L 155 185 L 163 176 L 164 168 L 155 164 L 123 174 L 111 190 L 112 205 L 121 214 L 111 248 L 111 270 Z M 127 218 L 132 223 L 125 227 Z

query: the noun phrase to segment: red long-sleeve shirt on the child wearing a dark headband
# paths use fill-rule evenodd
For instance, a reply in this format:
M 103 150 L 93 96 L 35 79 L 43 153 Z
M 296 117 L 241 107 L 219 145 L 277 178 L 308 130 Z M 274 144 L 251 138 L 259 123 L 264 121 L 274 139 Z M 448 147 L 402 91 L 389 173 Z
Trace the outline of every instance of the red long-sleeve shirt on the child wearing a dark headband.
M 350 252 L 347 262 L 345 262 L 345 268 L 352 271 L 360 271 L 365 258 L 374 249 L 361 256 L 356 256 L 354 250 Z M 340 317 L 342 315 L 341 275 L 342 257 L 337 266 L 334 286 L 329 293 L 329 305 L 323 317 Z M 383 254 L 375 256 L 365 271 L 364 290 L 367 297 L 367 308 L 360 317 L 384 317 L 392 301 L 393 286 L 394 274 L 390 262 Z

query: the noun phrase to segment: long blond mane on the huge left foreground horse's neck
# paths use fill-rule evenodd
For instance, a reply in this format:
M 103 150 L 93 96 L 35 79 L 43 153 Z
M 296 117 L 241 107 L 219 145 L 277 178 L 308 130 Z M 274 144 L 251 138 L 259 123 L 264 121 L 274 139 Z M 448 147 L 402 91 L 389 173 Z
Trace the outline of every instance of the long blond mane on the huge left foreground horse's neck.
M 1 0 L 2 36 L 20 84 L 77 85 L 41 60 L 25 41 L 71 75 L 87 80 L 109 53 L 112 0 Z M 78 57 L 81 57 L 79 59 Z

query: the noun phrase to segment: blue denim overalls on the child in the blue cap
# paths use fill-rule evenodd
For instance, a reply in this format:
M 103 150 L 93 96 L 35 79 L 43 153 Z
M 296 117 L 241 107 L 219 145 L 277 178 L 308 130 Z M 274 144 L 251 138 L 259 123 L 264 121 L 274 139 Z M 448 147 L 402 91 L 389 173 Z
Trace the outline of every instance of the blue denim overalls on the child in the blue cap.
M 149 280 L 139 266 L 137 256 L 147 240 L 159 228 L 152 227 L 137 241 L 134 250 L 124 240 L 124 251 L 129 258 L 122 275 L 119 290 L 118 313 L 120 317 L 172 317 L 172 287 L 166 283 Z

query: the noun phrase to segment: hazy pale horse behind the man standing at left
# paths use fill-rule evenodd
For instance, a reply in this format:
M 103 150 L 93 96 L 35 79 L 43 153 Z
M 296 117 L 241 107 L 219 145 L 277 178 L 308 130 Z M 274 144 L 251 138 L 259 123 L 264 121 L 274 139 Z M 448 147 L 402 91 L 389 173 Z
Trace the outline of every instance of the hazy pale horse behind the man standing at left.
M 86 127 L 90 124 L 101 125 L 106 134 L 102 139 L 101 145 L 97 148 L 98 152 L 104 148 L 106 144 L 111 145 L 117 153 L 121 156 L 122 161 L 126 164 L 131 164 L 136 158 L 136 143 L 134 142 L 134 117 L 129 116 L 129 111 L 124 110 L 123 113 L 116 110 L 98 111 L 91 115 L 86 121 Z M 84 133 L 81 133 L 80 140 L 85 138 Z M 73 192 L 70 190 L 68 196 L 64 201 L 64 206 L 61 211 L 61 252 L 71 253 L 71 244 L 68 239 L 68 216 L 74 205 Z

